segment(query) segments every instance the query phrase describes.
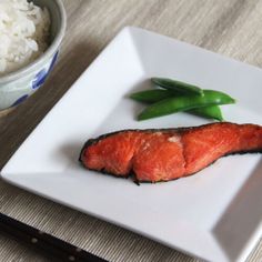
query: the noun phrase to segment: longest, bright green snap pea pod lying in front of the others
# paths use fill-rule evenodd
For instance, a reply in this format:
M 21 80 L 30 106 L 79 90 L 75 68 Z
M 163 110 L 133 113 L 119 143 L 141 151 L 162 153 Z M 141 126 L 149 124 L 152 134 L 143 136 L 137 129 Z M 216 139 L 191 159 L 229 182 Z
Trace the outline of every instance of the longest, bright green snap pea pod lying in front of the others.
M 145 108 L 139 115 L 138 120 L 145 120 L 157 117 L 162 117 L 180 111 L 188 111 L 195 108 L 215 105 L 215 104 L 229 104 L 234 103 L 235 100 L 223 92 L 214 90 L 203 90 L 204 95 L 191 94 L 172 97 L 161 100 Z

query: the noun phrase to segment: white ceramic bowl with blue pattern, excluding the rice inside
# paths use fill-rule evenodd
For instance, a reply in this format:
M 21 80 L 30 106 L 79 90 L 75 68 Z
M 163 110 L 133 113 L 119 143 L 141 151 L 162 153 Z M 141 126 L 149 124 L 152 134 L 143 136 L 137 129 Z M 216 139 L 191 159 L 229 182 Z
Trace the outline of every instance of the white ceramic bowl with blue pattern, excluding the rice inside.
M 58 58 L 67 21 L 62 1 L 33 0 L 33 2 L 49 10 L 51 43 L 37 60 L 0 78 L 0 110 L 16 107 L 34 93 L 46 81 Z

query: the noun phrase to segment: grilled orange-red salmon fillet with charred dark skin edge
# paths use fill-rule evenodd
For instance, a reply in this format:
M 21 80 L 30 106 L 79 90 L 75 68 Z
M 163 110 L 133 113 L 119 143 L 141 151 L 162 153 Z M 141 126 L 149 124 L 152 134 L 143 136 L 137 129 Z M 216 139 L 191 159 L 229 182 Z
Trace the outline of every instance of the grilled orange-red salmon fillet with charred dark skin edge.
M 262 152 L 262 127 L 222 122 L 104 134 L 88 140 L 79 160 L 90 170 L 158 182 L 194 174 L 223 155 L 250 152 Z

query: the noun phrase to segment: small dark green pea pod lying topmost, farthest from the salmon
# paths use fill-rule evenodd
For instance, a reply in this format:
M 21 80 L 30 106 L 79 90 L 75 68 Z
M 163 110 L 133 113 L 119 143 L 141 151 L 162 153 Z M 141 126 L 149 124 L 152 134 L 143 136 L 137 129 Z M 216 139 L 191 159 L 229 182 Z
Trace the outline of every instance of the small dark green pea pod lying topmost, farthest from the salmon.
M 200 94 L 203 95 L 203 90 L 196 85 L 184 83 L 181 81 L 167 79 L 167 78 L 151 78 L 151 81 L 164 89 L 179 91 L 188 94 Z

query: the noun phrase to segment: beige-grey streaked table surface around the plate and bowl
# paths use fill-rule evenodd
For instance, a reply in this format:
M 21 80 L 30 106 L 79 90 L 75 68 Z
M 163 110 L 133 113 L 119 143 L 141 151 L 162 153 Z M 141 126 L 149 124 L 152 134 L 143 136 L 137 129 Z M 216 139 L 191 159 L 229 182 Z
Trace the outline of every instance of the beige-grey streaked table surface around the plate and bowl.
M 60 60 L 24 104 L 0 119 L 0 168 L 124 26 L 138 26 L 262 67 L 262 0 L 63 0 Z M 40 150 L 40 149 L 39 149 Z M 0 212 L 110 261 L 200 261 L 0 182 Z M 0 235 L 1 261 L 48 261 Z M 262 242 L 249 261 L 262 261 Z

